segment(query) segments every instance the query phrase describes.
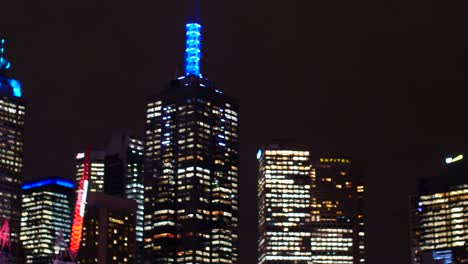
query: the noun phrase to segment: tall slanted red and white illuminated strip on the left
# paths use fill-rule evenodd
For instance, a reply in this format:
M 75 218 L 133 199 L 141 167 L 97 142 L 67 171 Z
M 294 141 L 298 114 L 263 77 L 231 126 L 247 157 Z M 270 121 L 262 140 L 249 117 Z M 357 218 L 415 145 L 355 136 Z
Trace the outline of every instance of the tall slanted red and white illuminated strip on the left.
M 76 258 L 78 249 L 80 248 L 81 235 L 83 232 L 83 218 L 86 209 L 86 197 L 88 195 L 89 186 L 89 151 L 86 152 L 83 162 L 83 174 L 81 176 L 75 204 L 75 213 L 73 216 L 73 225 L 70 236 L 70 253 Z

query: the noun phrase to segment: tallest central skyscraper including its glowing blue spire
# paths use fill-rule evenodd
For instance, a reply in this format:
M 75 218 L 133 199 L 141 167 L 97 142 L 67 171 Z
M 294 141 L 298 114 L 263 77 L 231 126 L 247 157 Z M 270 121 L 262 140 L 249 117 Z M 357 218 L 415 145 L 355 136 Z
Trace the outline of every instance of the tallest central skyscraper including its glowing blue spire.
M 238 263 L 239 106 L 200 73 L 186 25 L 185 75 L 147 101 L 145 251 L 151 263 Z

